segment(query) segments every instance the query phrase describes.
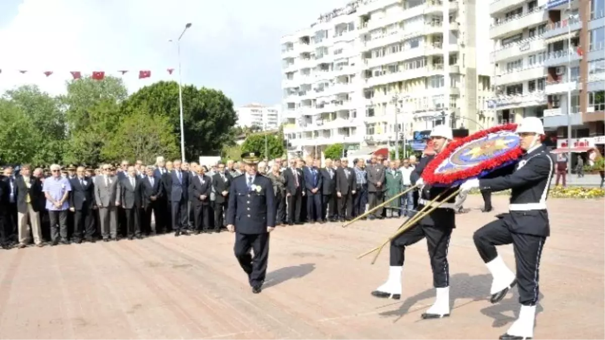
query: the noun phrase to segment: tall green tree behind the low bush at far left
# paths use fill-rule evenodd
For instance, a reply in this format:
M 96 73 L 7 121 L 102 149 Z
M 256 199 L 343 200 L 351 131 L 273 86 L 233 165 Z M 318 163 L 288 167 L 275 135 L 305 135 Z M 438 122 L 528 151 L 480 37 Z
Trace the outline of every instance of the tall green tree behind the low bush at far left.
M 65 115 L 59 110 L 59 102 L 37 86 L 22 86 L 7 91 L 5 98 L 16 105 L 33 125 L 36 141 L 31 162 L 50 164 L 62 159 L 66 138 Z

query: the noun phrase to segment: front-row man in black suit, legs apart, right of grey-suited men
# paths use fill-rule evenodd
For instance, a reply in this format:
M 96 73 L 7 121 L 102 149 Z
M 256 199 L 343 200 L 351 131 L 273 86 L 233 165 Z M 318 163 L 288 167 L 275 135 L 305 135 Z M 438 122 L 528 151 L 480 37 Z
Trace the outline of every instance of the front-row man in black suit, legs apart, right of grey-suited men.
M 146 175 L 141 180 L 141 203 L 143 212 L 141 214 L 141 233 L 144 235 L 155 234 L 162 230 L 163 220 L 162 212 L 166 211 L 166 204 L 163 198 L 162 177 L 155 177 L 154 169 L 148 166 L 145 169 Z M 151 214 L 155 218 L 155 224 L 151 227 Z

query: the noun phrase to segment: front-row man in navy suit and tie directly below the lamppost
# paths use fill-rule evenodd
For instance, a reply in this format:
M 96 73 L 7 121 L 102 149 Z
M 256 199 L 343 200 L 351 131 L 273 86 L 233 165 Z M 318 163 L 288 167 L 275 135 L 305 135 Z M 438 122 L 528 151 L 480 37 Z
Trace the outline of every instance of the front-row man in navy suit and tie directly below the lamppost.
M 174 236 L 189 235 L 187 227 L 187 201 L 189 196 L 189 174 L 181 170 L 181 161 L 172 162 L 174 169 L 170 173 L 169 200 L 171 202 L 172 230 Z

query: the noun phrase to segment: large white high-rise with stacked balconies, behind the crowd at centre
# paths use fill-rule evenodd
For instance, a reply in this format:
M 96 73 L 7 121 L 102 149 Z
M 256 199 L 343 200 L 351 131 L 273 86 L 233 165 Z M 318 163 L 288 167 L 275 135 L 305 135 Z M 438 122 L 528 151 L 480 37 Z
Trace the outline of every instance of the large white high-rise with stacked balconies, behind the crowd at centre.
M 495 125 L 485 105 L 493 72 L 488 27 L 487 2 L 375 0 L 283 37 L 290 145 L 378 148 L 443 122 L 471 132 Z

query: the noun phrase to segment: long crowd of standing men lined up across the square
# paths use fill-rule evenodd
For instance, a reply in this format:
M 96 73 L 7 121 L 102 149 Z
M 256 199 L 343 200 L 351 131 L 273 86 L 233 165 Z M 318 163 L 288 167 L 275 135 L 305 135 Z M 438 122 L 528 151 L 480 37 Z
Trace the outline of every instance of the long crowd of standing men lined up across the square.
M 393 162 L 307 157 L 260 162 L 276 199 L 276 225 L 347 221 L 409 188 L 416 157 Z M 180 160 L 154 165 L 123 161 L 93 169 L 24 164 L 0 175 L 0 244 L 4 248 L 116 241 L 172 232 L 175 236 L 220 232 L 233 178 L 244 163 L 206 166 Z M 17 171 L 18 170 L 18 171 Z M 368 218 L 410 215 L 410 192 Z

